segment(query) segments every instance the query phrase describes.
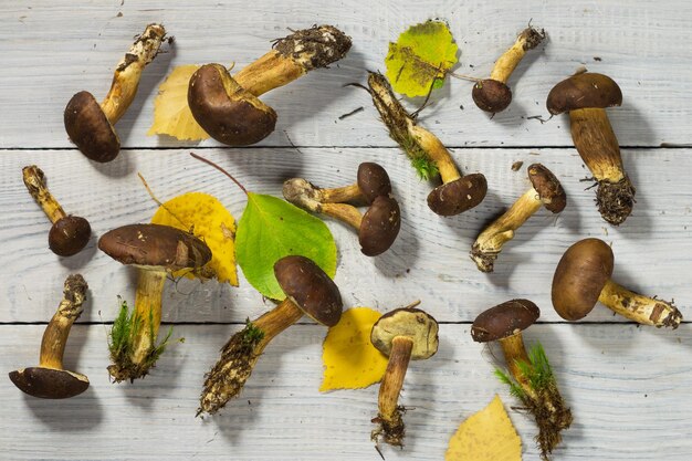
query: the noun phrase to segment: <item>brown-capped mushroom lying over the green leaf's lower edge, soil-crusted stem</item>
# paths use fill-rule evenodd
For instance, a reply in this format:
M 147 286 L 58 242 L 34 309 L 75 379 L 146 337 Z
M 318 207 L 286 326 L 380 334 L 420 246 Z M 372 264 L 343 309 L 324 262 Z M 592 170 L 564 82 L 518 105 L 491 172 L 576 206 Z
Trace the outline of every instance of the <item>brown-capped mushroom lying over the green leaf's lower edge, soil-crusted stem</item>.
M 325 326 L 336 325 L 342 317 L 338 287 L 312 260 L 284 256 L 274 263 L 274 275 L 286 298 L 259 318 L 248 319 L 245 327 L 226 343 L 221 357 L 206 375 L 197 416 L 213 415 L 237 397 L 264 348 L 303 314 Z

